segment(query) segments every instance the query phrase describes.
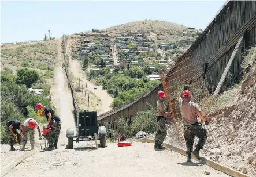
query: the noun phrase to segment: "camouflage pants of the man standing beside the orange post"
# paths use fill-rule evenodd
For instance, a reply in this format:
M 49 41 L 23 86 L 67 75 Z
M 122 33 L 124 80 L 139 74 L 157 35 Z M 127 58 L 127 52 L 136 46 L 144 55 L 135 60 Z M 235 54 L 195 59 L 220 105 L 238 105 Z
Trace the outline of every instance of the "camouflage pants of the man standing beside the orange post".
M 167 136 L 167 130 L 165 125 L 165 117 L 158 117 L 157 122 L 155 123 L 157 133 L 155 133 L 155 141 L 158 141 L 159 144 L 164 142 L 164 139 Z

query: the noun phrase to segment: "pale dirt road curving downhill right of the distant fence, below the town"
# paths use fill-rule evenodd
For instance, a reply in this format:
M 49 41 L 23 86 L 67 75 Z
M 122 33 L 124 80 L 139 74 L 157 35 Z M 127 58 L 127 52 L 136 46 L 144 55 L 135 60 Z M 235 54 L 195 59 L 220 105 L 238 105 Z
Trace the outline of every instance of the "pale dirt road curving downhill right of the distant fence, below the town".
M 67 48 L 66 48 L 66 51 L 68 52 L 69 52 L 69 45 L 70 45 L 70 41 L 68 41 Z M 100 111 L 98 111 L 98 115 L 106 113 L 109 110 L 112 110 L 110 105 L 113 102 L 113 98 L 107 93 L 107 91 L 101 90 L 101 88 L 98 86 L 96 86 L 97 89 L 94 89 L 95 84 L 91 83 L 86 79 L 85 73 L 82 70 L 79 62 L 77 60 L 72 60 L 70 56 L 69 56 L 69 64 L 70 64 L 71 72 L 73 76 L 75 76 L 75 78 L 77 79 L 80 78 L 81 82 L 83 82 L 84 85 L 86 85 L 87 83 L 87 90 L 94 93 L 101 100 L 101 105 L 98 105 L 100 106 L 99 108 Z

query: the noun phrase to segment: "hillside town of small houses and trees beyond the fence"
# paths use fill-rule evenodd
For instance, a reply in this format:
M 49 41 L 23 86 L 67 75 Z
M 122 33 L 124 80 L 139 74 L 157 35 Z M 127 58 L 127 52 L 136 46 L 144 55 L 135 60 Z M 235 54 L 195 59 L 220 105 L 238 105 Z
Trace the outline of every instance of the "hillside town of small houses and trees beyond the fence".
M 76 33 L 79 46 L 73 54 L 84 60 L 87 71 L 101 76 L 99 70 L 109 67 L 110 73 L 118 68 L 118 74 L 124 74 L 125 68 L 138 67 L 144 70 L 146 78 L 161 80 L 159 68 L 169 71 L 175 59 L 190 47 L 201 30 L 187 28 L 180 33 L 181 40 L 171 42 L 158 40 L 157 34 L 144 30 L 123 31 L 110 36 L 103 30 L 92 29 L 91 32 Z M 76 37 L 74 37 L 76 38 Z

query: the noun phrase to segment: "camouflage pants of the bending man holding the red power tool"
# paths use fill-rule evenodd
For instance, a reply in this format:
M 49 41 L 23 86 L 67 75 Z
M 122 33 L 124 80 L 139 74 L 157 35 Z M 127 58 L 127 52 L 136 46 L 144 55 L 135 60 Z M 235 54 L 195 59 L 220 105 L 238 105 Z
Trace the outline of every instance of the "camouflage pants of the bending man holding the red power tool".
M 58 143 L 58 139 L 61 132 L 61 121 L 50 121 L 49 125 L 51 125 L 51 131 L 49 132 L 49 136 L 46 138 L 49 145 L 53 145 L 54 143 Z

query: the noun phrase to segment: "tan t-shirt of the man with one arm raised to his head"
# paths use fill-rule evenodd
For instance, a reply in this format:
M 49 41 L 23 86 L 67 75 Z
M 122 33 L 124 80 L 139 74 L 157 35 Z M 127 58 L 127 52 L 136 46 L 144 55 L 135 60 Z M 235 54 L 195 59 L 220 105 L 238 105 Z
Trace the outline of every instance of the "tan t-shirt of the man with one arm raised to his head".
M 182 98 L 179 98 L 179 107 L 184 125 L 191 125 L 198 122 L 197 113 L 201 112 L 201 109 L 196 103 L 183 101 Z

